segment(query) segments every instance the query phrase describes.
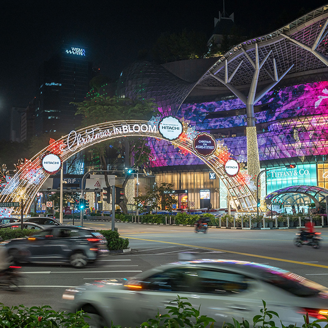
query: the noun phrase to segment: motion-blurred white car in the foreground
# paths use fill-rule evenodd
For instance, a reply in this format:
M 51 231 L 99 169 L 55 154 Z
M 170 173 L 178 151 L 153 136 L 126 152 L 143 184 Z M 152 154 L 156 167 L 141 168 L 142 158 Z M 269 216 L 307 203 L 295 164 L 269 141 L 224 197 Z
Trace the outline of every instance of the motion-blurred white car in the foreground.
M 132 279 L 95 281 L 63 294 L 64 307 L 92 315 L 92 327 L 119 324 L 139 326 L 155 318 L 169 302 L 187 297 L 200 314 L 216 320 L 215 326 L 242 318 L 253 322 L 262 308 L 278 312 L 285 325 L 301 325 L 328 313 L 328 290 L 294 273 L 255 262 L 192 260 L 162 265 Z M 276 324 L 279 324 L 277 318 Z

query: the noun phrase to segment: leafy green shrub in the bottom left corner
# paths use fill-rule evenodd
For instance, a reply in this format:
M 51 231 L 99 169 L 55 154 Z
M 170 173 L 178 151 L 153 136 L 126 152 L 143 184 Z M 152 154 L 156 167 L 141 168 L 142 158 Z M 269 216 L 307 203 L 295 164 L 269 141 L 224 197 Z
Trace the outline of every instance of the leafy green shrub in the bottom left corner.
M 89 328 L 85 322 L 86 314 L 83 311 L 76 313 L 57 312 L 50 306 L 32 306 L 26 308 L 24 305 L 5 306 L 0 303 L 0 325 L 8 328 Z

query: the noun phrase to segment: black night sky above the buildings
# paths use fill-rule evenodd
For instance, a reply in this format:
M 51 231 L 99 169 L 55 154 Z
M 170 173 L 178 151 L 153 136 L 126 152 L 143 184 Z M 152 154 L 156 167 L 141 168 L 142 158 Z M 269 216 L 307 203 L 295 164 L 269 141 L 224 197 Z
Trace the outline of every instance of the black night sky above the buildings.
M 226 0 L 226 11 L 235 13 L 235 23 L 245 34 L 258 36 L 296 18 L 301 8 L 306 12 L 323 4 Z M 151 48 L 163 32 L 186 29 L 209 37 L 223 1 L 3 0 L 0 8 L 0 118 L 7 119 L 11 107 L 27 107 L 33 99 L 39 66 L 63 40 L 89 48 L 94 67 L 117 79 L 139 50 Z M 5 127 L 0 138 L 7 138 Z

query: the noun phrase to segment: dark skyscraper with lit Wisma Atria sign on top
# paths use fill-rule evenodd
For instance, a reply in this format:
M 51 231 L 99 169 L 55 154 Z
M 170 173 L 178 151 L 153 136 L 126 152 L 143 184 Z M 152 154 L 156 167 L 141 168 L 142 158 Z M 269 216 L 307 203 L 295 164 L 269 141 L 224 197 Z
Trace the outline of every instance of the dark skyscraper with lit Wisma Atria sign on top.
M 44 61 L 39 73 L 38 101 L 35 106 L 35 134 L 69 133 L 80 124 L 72 101 L 85 99 L 92 78 L 92 64 L 86 48 L 62 44 Z

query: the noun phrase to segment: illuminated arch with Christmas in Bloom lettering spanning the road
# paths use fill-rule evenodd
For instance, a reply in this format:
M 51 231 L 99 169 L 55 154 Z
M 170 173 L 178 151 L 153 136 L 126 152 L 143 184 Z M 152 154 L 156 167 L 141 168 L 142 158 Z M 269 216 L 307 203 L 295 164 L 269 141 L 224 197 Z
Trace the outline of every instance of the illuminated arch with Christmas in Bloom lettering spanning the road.
M 25 161 L 24 165 L 18 167 L 18 172 L 2 190 L 0 201 L 20 202 L 21 199 L 24 199 L 23 212 L 27 213 L 37 191 L 49 177 L 49 174 L 46 173 L 40 165 L 42 157 L 45 154 L 57 154 L 64 162 L 77 152 L 97 144 L 98 142 L 126 136 L 151 137 L 167 140 L 158 132 L 154 122 L 142 120 L 104 122 L 78 131 L 71 131 L 70 134 L 54 141 L 47 148 L 36 154 L 31 160 Z M 249 187 L 249 183 L 247 183 L 249 176 L 239 172 L 238 175 L 230 177 L 224 171 L 224 163 L 227 159 L 222 157 L 222 145 L 218 145 L 216 151 L 212 155 L 204 157 L 194 151 L 191 138 L 179 138 L 170 142 L 196 155 L 221 178 L 224 185 L 227 187 L 235 208 L 241 211 L 254 211 L 256 209 L 255 194 Z M 20 208 L 11 209 L 13 213 L 20 213 L 21 210 Z

